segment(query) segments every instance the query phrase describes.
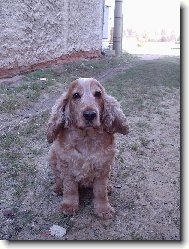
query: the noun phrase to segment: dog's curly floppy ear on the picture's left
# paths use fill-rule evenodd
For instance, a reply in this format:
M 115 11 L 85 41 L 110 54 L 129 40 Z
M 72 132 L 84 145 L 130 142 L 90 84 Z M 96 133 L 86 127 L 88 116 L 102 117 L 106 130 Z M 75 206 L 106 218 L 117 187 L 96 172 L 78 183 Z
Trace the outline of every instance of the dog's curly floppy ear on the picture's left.
M 66 128 L 70 125 L 68 94 L 63 94 L 57 99 L 52 107 L 51 116 L 47 124 L 47 141 L 52 143 L 61 128 Z

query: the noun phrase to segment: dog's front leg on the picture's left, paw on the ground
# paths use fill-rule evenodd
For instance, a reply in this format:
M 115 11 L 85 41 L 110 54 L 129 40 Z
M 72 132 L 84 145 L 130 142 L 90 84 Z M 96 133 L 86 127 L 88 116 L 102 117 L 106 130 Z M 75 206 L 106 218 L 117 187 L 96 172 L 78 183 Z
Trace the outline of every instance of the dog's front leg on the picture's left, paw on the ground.
M 70 176 L 63 180 L 63 202 L 61 212 L 67 215 L 74 215 L 79 208 L 78 183 Z

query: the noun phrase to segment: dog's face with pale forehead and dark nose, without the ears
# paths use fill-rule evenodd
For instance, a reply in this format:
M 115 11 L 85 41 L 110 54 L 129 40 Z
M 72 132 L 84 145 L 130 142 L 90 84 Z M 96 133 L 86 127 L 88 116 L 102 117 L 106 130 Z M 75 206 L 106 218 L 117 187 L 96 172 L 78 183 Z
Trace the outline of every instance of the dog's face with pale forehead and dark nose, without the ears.
M 104 88 L 95 79 L 79 78 L 68 91 L 72 125 L 79 129 L 99 128 L 104 108 Z

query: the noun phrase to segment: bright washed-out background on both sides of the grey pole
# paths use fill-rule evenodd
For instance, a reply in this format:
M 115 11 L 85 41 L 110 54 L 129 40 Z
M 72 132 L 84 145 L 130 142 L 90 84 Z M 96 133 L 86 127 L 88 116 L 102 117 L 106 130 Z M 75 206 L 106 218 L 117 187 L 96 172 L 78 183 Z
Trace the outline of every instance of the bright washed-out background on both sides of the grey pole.
M 104 48 L 112 49 L 115 0 L 106 0 Z M 108 12 L 108 17 L 106 16 Z M 180 54 L 179 0 L 123 0 L 122 50 L 131 54 Z M 105 23 L 106 21 L 104 21 Z M 105 29 L 104 29 L 105 31 Z M 104 39 L 105 38 L 105 39 Z

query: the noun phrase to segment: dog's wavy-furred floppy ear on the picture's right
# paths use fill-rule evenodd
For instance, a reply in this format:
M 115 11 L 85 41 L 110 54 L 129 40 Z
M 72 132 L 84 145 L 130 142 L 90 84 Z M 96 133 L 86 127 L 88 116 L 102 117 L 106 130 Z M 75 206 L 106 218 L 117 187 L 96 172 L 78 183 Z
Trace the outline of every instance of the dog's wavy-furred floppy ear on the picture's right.
M 119 102 L 112 96 L 105 94 L 104 112 L 102 117 L 104 130 L 109 133 L 128 134 L 129 126 L 126 116 L 121 110 Z

